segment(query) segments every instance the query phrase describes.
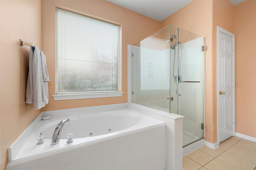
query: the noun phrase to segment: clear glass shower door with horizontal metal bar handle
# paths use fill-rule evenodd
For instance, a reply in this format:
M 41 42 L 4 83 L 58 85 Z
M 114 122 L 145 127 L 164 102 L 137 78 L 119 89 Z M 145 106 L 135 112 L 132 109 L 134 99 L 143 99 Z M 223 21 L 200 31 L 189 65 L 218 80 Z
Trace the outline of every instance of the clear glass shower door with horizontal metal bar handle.
M 175 64 L 178 114 L 183 119 L 183 147 L 204 137 L 204 37 L 177 29 Z

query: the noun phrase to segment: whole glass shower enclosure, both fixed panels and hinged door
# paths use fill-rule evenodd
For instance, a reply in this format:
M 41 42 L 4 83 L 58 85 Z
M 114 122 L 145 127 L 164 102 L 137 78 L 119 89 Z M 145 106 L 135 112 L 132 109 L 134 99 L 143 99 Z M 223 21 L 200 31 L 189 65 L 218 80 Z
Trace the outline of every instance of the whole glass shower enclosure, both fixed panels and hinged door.
M 169 25 L 133 45 L 132 102 L 185 116 L 183 147 L 204 138 L 204 37 Z

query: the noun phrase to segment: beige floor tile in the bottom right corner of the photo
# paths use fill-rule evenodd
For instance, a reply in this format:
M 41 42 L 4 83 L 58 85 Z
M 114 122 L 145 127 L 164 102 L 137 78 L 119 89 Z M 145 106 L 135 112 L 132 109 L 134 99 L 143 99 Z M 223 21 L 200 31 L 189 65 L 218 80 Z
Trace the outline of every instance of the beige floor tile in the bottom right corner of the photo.
M 226 164 L 229 164 L 230 166 L 233 166 L 237 169 L 241 170 L 253 170 L 256 166 L 256 164 L 251 163 L 247 160 L 244 160 L 236 155 L 233 155 L 228 152 L 223 152 L 221 155 L 219 155 L 216 159 L 221 160 L 222 162 L 225 162 Z M 206 166 L 207 168 L 207 166 Z

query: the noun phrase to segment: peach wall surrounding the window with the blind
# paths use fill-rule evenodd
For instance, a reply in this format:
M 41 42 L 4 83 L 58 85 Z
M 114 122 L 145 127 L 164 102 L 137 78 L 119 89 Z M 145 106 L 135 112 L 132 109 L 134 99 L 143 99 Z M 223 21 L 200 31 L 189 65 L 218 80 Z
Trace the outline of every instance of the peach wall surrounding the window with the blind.
M 54 101 L 55 94 L 55 7 L 59 7 L 80 14 L 103 18 L 109 22 L 121 25 L 122 52 L 121 52 L 121 82 L 122 97 L 76 99 Z M 135 44 L 161 29 L 161 23 L 144 15 L 115 5 L 113 3 L 97 1 L 42 1 L 42 50 L 47 57 L 47 66 L 50 76 L 49 103 L 43 108 L 58 110 L 74 107 L 86 107 L 104 104 L 127 102 L 127 44 Z

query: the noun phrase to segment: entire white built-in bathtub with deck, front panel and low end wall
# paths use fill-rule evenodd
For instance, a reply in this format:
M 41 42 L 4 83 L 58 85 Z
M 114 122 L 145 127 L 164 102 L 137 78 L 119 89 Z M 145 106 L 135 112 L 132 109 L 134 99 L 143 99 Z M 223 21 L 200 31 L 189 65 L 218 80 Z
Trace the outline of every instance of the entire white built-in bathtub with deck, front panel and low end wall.
M 52 116 L 52 118 L 41 120 L 41 117 L 44 116 Z M 36 169 L 44 169 L 46 167 L 39 168 L 40 165 L 36 163 L 52 162 L 59 156 L 65 160 L 70 156 L 74 157 L 71 160 L 76 162 L 81 159 L 75 159 L 79 155 L 82 157 L 89 156 L 88 159 L 91 159 L 92 162 L 84 162 L 81 159 L 80 161 L 83 163 L 76 162 L 77 165 L 74 166 L 74 169 L 80 169 L 80 167 L 101 169 L 102 167 L 109 167 L 109 164 L 113 165 L 113 167 L 109 167 L 110 169 L 122 169 L 122 166 L 126 169 L 148 169 L 147 164 L 159 170 L 164 167 L 182 169 L 183 117 L 159 112 L 156 109 L 136 103 L 42 112 L 10 146 L 6 169 L 35 169 L 35 167 Z M 66 118 L 69 118 L 70 122 L 63 126 L 60 142 L 51 145 L 54 129 L 61 120 Z M 89 135 L 91 132 L 93 133 L 92 136 Z M 36 145 L 36 138 L 40 133 L 45 136 L 45 143 Z M 74 142 L 67 144 L 69 133 L 74 135 Z M 121 143 L 112 146 L 112 143 L 117 141 Z M 138 146 L 134 146 L 136 143 Z M 104 148 L 106 145 L 109 145 L 108 149 Z M 124 148 L 120 148 L 122 145 Z M 94 147 L 95 150 L 93 151 L 91 147 Z M 77 154 L 78 152 L 79 154 Z M 93 157 L 90 157 L 90 154 L 94 154 L 91 152 L 97 152 L 100 155 L 105 155 L 105 157 L 99 157 L 96 154 L 94 160 Z M 134 154 L 139 155 L 136 161 L 143 163 L 133 166 L 133 162 L 136 162 L 132 158 Z M 148 157 L 147 160 L 154 159 L 156 162 L 153 163 L 153 160 L 152 163 L 144 162 L 145 158 L 143 157 L 145 155 Z M 102 164 L 97 163 L 97 157 L 102 159 Z M 109 162 L 103 161 L 104 159 L 108 159 Z M 117 160 L 121 162 L 116 164 Z M 53 167 L 51 169 L 58 168 Z

